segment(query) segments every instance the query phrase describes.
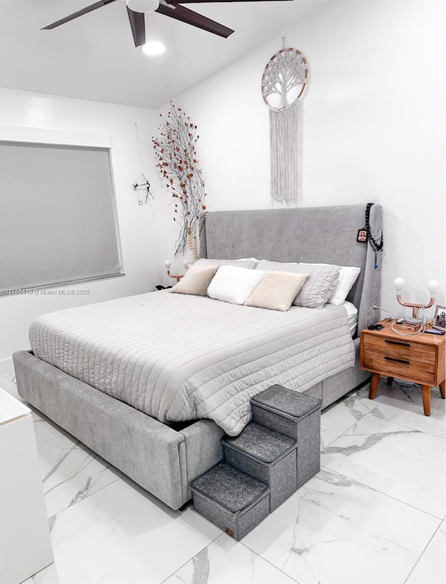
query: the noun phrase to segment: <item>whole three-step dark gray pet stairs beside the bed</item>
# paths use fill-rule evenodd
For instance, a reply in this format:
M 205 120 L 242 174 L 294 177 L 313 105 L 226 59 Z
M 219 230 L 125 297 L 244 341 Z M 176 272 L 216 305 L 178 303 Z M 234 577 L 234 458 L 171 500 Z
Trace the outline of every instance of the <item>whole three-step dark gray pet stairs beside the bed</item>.
M 223 438 L 224 461 L 195 479 L 194 508 L 242 539 L 321 468 L 321 400 L 273 385 L 251 399 L 252 422 Z

